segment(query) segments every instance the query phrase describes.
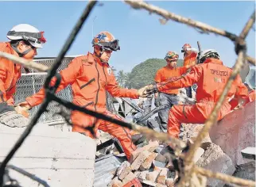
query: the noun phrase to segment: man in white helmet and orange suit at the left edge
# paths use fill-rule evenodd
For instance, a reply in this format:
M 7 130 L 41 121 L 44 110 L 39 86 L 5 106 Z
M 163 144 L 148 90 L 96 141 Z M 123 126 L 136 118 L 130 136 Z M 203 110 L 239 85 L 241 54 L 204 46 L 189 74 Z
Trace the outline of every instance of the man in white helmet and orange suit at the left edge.
M 46 42 L 43 33 L 32 25 L 16 25 L 7 33 L 10 41 L 0 43 L 0 51 L 24 59 L 33 59 L 37 55 L 37 48 L 42 48 Z M 25 71 L 28 72 L 28 69 L 25 68 Z M 14 93 L 19 78 L 21 65 L 0 57 L 0 123 L 12 128 L 25 127 L 28 124 L 28 119 L 25 118 L 28 113 L 14 108 Z

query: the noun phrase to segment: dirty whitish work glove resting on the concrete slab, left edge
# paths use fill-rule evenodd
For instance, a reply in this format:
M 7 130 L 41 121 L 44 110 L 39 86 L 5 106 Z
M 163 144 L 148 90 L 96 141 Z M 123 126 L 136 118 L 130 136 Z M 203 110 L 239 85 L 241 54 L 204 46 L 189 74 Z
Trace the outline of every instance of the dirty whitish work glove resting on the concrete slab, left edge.
M 23 128 L 29 124 L 29 118 L 15 111 L 7 111 L 0 114 L 0 123 L 10 128 Z

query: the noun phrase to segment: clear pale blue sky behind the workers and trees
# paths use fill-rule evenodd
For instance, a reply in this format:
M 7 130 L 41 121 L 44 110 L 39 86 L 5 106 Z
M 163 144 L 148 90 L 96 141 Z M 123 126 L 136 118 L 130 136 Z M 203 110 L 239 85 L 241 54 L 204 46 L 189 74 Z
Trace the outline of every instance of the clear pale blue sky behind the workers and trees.
M 237 35 L 255 8 L 253 1 L 149 3 Z M 1 13 L 5 15 L 0 17 L 0 41 L 7 40 L 6 33 L 14 25 L 27 23 L 45 31 L 47 43 L 37 51 L 37 56 L 56 56 L 86 4 L 87 2 L 0 2 Z M 182 45 L 189 43 L 197 48 L 197 40 L 203 49 L 215 48 L 228 67 L 234 65 L 236 55 L 231 40 L 212 33 L 200 34 L 196 29 L 175 21 L 161 25 L 159 18 L 155 14 L 149 15 L 145 10 L 133 10 L 124 2 L 104 1 L 103 6 L 97 6 L 92 11 L 68 55 L 92 52 L 94 25 L 94 35 L 107 30 L 120 40 L 121 51 L 113 52 L 110 61 L 111 66 L 117 70 L 130 71 L 145 59 L 164 58 L 167 51 L 178 52 L 181 56 Z M 253 30 L 250 30 L 246 42 L 248 55 L 255 56 Z

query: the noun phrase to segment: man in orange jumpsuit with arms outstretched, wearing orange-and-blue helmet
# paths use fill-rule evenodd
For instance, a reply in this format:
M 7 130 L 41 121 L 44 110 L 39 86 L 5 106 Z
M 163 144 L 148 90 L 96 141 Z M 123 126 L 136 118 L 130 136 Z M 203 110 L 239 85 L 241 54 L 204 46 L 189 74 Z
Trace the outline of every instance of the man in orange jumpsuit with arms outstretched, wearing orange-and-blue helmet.
M 72 59 L 68 67 L 60 71 L 61 82 L 56 92 L 71 85 L 72 102 L 74 104 L 122 120 L 118 115 L 107 111 L 106 91 L 111 93 L 113 97 L 130 97 L 134 99 L 142 96 L 142 92 L 118 86 L 108 61 L 112 52 L 120 50 L 120 47 L 119 41 L 115 40 L 110 32 L 99 32 L 92 40 L 92 47 L 94 48 L 93 53 L 88 52 L 87 55 Z M 56 78 L 52 78 L 51 84 L 54 85 L 55 82 Z M 26 97 L 25 102 L 19 105 L 25 109 L 31 109 L 33 106 L 41 104 L 44 98 L 45 89 L 42 88 L 31 97 Z M 79 111 L 72 111 L 71 120 L 72 132 L 80 132 L 93 138 L 91 132 L 87 131 L 85 127 L 91 127 L 95 124 L 94 131 L 96 135 L 98 134 L 98 129 L 114 135 L 121 143 L 128 160 L 131 153 L 136 149 L 136 146 L 132 143 L 131 133 L 128 128 L 122 128 L 105 120 L 98 120 L 94 116 Z

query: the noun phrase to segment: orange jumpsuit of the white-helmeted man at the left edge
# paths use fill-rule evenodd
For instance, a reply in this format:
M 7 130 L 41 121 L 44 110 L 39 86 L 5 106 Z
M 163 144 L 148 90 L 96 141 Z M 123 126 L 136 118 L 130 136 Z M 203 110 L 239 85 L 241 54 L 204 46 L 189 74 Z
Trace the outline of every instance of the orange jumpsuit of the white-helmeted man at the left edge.
M 10 42 L 0 43 L 0 52 L 18 56 L 11 48 Z M 14 93 L 19 78 L 21 78 L 21 65 L 0 57 L 0 113 L 14 110 L 10 106 L 14 105 Z

